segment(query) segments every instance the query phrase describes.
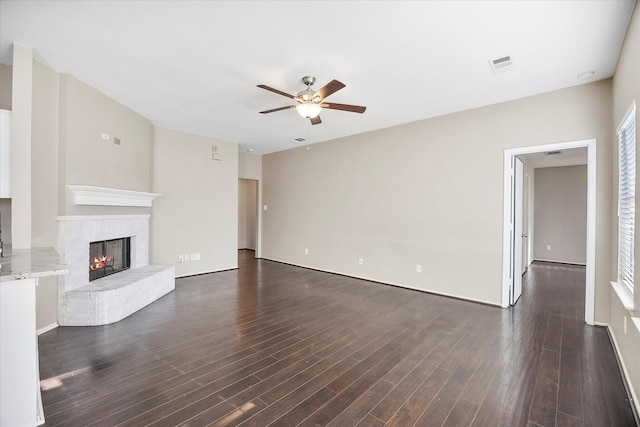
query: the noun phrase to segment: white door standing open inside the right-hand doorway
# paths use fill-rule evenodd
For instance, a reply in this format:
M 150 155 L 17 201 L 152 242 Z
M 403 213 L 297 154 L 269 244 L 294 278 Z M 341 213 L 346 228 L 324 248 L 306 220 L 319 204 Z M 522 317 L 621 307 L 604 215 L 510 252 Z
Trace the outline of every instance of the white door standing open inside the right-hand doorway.
M 522 294 L 522 256 L 524 244 L 523 213 L 524 213 L 524 165 L 522 160 L 513 157 L 513 177 L 511 186 L 512 205 L 512 266 L 511 266 L 511 298 L 510 304 L 514 305 Z

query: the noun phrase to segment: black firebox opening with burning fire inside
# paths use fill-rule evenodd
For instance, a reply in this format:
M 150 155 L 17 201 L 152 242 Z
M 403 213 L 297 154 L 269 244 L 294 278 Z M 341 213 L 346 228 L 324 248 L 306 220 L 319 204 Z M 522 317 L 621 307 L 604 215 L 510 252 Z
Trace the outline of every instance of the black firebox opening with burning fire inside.
M 90 242 L 89 281 L 129 269 L 130 253 L 130 237 Z

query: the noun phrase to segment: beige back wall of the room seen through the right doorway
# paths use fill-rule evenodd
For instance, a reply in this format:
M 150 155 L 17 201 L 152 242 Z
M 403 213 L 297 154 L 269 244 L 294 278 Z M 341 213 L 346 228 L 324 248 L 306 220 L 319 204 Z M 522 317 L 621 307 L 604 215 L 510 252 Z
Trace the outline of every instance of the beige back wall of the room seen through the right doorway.
M 534 218 L 534 259 L 586 264 L 587 166 L 535 169 Z

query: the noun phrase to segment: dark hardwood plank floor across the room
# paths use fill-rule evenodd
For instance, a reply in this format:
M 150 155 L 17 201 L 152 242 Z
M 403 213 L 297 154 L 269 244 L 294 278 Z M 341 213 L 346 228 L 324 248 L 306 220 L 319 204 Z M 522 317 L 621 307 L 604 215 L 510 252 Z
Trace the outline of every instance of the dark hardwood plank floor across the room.
M 505 310 L 239 256 L 41 335 L 45 425 L 635 426 L 582 267 L 534 264 Z

